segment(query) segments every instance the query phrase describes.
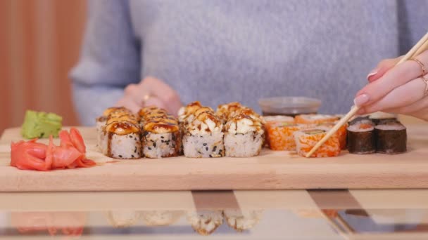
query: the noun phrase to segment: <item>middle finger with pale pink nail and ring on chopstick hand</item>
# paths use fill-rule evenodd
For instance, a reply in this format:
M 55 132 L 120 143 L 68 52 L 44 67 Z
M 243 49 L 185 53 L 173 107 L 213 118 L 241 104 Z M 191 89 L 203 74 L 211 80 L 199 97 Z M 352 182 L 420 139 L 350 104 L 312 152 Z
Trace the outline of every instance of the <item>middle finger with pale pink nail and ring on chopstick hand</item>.
M 424 51 L 421 55 L 417 56 L 424 65 L 428 66 L 428 51 Z M 354 100 L 355 105 L 371 105 L 386 94 L 391 92 L 394 88 L 401 86 L 408 81 L 416 79 L 422 74 L 420 65 L 412 60 L 405 61 L 400 65 L 390 69 L 377 81 L 372 81 L 370 84 L 361 89 Z

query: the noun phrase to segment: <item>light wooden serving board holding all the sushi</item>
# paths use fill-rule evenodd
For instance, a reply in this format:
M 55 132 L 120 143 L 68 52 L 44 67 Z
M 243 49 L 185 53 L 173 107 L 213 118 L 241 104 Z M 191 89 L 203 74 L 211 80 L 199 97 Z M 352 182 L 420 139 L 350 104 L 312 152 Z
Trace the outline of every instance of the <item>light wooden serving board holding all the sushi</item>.
M 408 126 L 409 151 L 405 154 L 343 151 L 323 159 L 263 149 L 260 156 L 251 158 L 117 161 L 96 152 L 94 128 L 80 131 L 87 157 L 98 166 L 39 172 L 9 166 L 10 143 L 21 138 L 19 128 L 6 130 L 0 139 L 0 192 L 428 188 L 427 125 Z

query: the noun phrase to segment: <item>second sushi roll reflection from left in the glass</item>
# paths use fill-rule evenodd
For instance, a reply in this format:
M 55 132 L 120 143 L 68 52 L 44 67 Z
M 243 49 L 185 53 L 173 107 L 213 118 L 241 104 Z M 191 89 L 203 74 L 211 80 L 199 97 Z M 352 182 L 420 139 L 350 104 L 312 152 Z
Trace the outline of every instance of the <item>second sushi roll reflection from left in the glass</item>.
M 183 215 L 182 211 L 141 211 L 143 222 L 148 226 L 172 225 Z

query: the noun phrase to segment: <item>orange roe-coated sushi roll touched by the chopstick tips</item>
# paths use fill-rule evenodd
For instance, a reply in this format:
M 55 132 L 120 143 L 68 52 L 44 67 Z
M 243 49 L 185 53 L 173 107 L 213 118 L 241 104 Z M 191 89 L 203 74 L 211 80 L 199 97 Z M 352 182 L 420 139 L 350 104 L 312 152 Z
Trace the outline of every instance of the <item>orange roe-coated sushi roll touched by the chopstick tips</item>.
M 327 130 L 319 128 L 310 128 L 294 133 L 296 141 L 296 152 L 300 156 L 306 156 L 308 152 L 327 134 Z M 340 154 L 339 138 L 332 135 L 316 152 L 313 157 L 339 156 Z

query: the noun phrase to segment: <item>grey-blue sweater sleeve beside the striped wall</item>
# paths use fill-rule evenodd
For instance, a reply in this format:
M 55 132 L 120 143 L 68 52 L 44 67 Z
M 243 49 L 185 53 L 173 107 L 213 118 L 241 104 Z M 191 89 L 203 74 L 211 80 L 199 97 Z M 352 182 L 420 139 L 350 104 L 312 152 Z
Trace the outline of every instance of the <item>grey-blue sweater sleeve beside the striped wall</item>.
M 96 116 L 139 81 L 140 45 L 132 30 L 128 1 L 89 0 L 82 52 L 70 72 L 80 123 L 94 125 Z

